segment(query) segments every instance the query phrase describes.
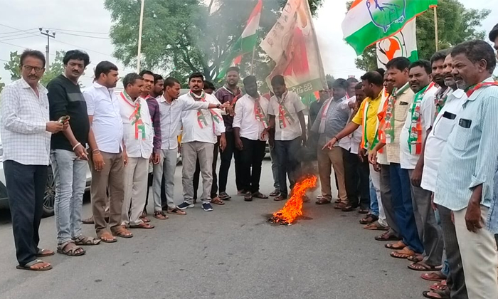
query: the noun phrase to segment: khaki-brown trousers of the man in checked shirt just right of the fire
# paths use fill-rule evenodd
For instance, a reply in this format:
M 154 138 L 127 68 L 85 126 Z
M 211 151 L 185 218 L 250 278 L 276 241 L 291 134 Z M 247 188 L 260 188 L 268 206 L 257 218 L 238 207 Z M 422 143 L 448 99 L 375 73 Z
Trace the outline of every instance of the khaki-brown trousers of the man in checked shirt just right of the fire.
M 327 200 L 332 200 L 332 189 L 330 187 L 330 175 L 332 168 L 339 184 L 339 199 L 347 203 L 346 184 L 344 182 L 344 162 L 342 159 L 342 148 L 332 147 L 332 150 L 318 149 L 318 173 L 320 184 L 322 185 L 322 196 Z

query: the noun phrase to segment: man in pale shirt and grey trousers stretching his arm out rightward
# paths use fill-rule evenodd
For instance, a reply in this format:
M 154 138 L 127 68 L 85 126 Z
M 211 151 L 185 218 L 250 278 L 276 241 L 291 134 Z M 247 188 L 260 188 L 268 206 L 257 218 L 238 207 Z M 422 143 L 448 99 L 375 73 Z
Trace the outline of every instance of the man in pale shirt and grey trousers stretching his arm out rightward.
M 181 133 L 181 113 L 189 110 L 206 110 L 218 107 L 218 104 L 208 103 L 207 101 L 191 101 L 186 97 L 178 98 L 180 88 L 179 80 L 171 77 L 166 78 L 164 80 L 164 94 L 157 99 L 157 103 L 159 103 L 159 115 L 161 117 L 161 157 L 159 163 L 154 165 L 152 189 L 154 190 L 154 218 L 159 220 L 168 219 L 168 216 L 162 211 L 161 180 L 163 178 L 167 212 L 176 215 L 186 214 L 174 202 L 174 174 L 176 172 L 178 135 Z M 230 105 L 230 103 L 226 105 Z M 183 156 L 185 157 L 185 153 L 183 153 Z M 182 157 L 182 160 L 185 159 L 184 157 Z

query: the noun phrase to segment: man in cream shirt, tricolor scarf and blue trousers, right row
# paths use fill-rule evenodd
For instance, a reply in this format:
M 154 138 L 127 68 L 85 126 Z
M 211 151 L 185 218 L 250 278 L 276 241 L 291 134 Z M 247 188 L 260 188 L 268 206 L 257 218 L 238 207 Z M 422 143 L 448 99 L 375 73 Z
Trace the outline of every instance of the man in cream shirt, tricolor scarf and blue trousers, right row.
M 386 244 L 386 248 L 396 251 L 391 253 L 393 258 L 408 258 L 416 253 L 423 253 L 423 245 L 418 237 L 413 202 L 410 190 L 408 172 L 401 169 L 400 135 L 406 122 L 406 115 L 413 104 L 414 93 L 408 84 L 408 66 L 410 61 L 406 57 L 393 58 L 386 65 L 387 79 L 393 82 L 395 90 L 389 96 L 387 105 L 381 113 L 383 127 L 379 127 L 379 142 L 369 152 L 369 162 L 377 163 L 377 152 L 386 146 L 389 172 L 391 174 L 391 192 L 396 223 L 403 236 L 403 241 Z M 406 170 L 406 169 L 405 169 Z

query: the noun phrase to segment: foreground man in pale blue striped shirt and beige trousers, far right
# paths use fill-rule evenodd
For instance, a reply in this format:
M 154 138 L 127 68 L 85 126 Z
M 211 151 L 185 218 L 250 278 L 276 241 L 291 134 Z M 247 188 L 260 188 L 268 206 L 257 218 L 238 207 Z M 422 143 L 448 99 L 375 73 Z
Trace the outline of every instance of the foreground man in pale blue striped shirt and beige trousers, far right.
M 460 43 L 451 56 L 452 75 L 468 98 L 441 154 L 434 202 L 453 211 L 469 298 L 497 298 L 497 245 L 484 229 L 491 224 L 498 161 L 496 57 L 480 40 Z

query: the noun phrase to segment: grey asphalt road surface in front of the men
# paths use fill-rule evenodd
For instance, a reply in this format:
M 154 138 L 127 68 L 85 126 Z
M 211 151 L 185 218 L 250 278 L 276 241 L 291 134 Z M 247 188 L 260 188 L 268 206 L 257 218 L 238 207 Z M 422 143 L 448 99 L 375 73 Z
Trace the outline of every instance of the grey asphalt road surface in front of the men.
M 261 191 L 268 194 L 270 160 L 263 163 Z M 46 258 L 54 267 L 46 273 L 16 270 L 9 214 L 0 211 L 0 298 L 422 298 L 429 283 L 408 270 L 408 261 L 391 258 L 373 240 L 376 232 L 361 229 L 356 212 L 312 200 L 296 224 L 268 224 L 282 205 L 240 196 L 212 212 L 197 204 L 186 216 L 152 218 L 156 229 L 134 230 L 134 238 L 85 247 L 85 256 L 56 253 Z M 90 204 L 83 209 L 90 216 Z M 88 225 L 83 232 L 94 233 Z M 55 245 L 54 219 L 43 219 L 41 247 Z

